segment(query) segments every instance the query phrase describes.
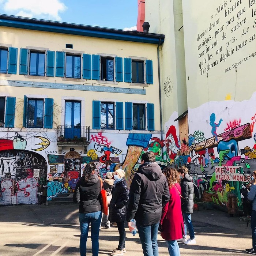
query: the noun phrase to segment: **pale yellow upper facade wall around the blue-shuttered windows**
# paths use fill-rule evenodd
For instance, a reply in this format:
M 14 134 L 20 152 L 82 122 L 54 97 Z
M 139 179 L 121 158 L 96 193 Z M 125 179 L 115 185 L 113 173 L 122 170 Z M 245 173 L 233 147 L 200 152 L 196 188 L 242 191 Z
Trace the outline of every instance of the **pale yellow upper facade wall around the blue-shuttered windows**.
M 84 97 L 86 102 L 86 120 L 85 124 L 92 126 L 92 101 L 100 98 L 117 99 L 118 101 L 147 101 L 154 103 L 155 109 L 155 130 L 160 130 L 159 120 L 159 94 L 158 94 L 158 66 L 157 66 L 157 45 L 144 44 L 137 42 L 118 41 L 110 39 L 101 39 L 93 37 L 83 37 L 78 35 L 58 34 L 42 31 L 15 29 L 9 27 L 1 27 L 0 29 L 0 44 L 8 44 L 16 48 L 48 48 L 54 51 L 65 51 L 74 53 L 75 51 L 87 54 L 116 54 L 118 57 L 143 57 L 148 60 L 153 60 L 153 78 L 154 84 L 142 84 L 141 86 L 131 86 L 129 83 L 118 82 L 118 84 L 104 84 L 104 86 L 120 87 L 120 88 L 135 88 L 146 89 L 146 95 L 122 94 L 122 93 L 103 93 L 80 90 L 61 90 L 61 89 L 45 89 L 45 88 L 28 88 L 28 87 L 13 87 L 1 86 L 1 93 L 9 94 L 16 97 L 15 127 L 22 127 L 23 120 L 23 98 L 25 94 L 47 95 L 48 98 L 54 98 L 56 107 L 61 107 L 61 97 Z M 73 49 L 65 49 L 65 44 L 73 44 Z M 35 82 L 50 82 L 63 84 L 81 84 L 79 80 L 74 82 L 63 80 L 62 78 L 52 77 L 47 79 L 26 78 L 24 75 L 19 75 L 19 51 L 18 65 L 16 75 L 1 74 L 0 79 L 7 80 L 22 80 Z M 114 71 L 115 72 L 115 71 Z M 96 80 L 87 80 L 86 83 L 97 83 Z M 1 85 L 1 84 L 0 84 Z M 102 85 L 102 84 L 101 84 Z M 60 109 L 61 111 L 61 109 Z M 54 117 L 56 125 L 60 125 L 60 114 Z

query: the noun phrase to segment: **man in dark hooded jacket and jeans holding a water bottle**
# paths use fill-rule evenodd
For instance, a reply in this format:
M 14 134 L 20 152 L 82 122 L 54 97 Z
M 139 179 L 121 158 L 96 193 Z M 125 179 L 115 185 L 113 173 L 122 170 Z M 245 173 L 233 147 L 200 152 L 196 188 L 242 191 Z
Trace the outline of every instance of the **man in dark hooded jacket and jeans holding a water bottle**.
M 131 219 L 136 220 L 144 256 L 158 256 L 158 226 L 170 192 L 166 177 L 155 162 L 155 154 L 142 154 L 141 163 L 131 183 L 126 220 L 130 231 L 134 229 Z

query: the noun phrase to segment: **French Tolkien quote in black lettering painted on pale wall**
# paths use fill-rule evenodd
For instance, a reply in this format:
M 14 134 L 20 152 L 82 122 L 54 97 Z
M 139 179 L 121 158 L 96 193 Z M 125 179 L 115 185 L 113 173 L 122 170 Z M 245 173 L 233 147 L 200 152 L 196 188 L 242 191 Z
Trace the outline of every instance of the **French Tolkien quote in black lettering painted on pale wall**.
M 203 75 L 219 63 L 228 63 L 223 72 L 229 72 L 251 58 L 256 58 L 256 0 L 227 0 L 216 6 L 211 22 L 197 35 L 199 73 Z M 243 48 L 249 54 L 230 65 L 230 56 Z M 238 56 L 238 55 L 237 55 Z

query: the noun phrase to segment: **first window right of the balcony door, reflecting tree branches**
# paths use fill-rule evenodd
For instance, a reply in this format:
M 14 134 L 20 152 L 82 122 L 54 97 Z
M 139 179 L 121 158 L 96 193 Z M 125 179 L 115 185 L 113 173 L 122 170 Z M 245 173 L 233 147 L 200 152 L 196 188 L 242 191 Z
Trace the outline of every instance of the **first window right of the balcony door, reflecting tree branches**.
M 114 129 L 114 103 L 101 102 L 101 129 Z

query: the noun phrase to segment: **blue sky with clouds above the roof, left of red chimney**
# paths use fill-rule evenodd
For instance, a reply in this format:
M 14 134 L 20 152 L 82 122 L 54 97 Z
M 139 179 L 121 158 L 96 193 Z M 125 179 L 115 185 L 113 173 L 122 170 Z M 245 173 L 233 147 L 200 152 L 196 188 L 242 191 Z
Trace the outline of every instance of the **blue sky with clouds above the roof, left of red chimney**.
M 0 13 L 115 29 L 136 29 L 138 0 L 0 0 Z

